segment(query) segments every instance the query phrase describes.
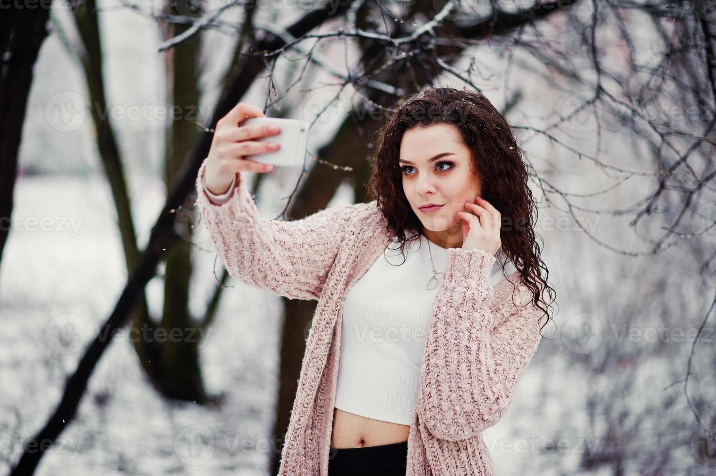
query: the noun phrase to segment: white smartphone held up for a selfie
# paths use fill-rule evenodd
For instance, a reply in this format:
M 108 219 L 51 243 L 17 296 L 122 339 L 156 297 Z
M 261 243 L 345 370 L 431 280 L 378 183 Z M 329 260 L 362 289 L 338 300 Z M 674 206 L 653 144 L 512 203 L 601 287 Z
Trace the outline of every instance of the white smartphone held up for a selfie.
M 284 119 L 281 117 L 249 117 L 241 125 L 277 125 L 281 132 L 277 135 L 257 137 L 258 142 L 279 142 L 281 147 L 275 152 L 261 152 L 250 154 L 251 160 L 262 164 L 272 164 L 277 167 L 303 167 L 306 157 L 306 142 L 308 142 L 309 123 L 300 119 Z

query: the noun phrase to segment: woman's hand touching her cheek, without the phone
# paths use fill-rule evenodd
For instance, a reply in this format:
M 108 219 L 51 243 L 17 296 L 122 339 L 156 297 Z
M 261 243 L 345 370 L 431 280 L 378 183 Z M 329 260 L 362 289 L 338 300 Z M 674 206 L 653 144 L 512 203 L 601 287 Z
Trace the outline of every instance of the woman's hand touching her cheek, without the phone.
M 458 212 L 458 216 L 463 219 L 463 250 L 484 250 L 494 256 L 502 246 L 502 215 L 490 202 L 479 196 L 475 197 L 475 203 L 465 202 L 465 208 L 472 213 Z

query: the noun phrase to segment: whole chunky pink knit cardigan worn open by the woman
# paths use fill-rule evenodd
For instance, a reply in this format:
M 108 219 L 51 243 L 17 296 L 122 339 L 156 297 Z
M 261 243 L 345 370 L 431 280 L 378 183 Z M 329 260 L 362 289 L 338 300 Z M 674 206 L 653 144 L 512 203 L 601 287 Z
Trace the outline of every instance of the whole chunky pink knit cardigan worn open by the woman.
M 349 289 L 389 244 L 386 221 L 375 200 L 301 220 L 264 218 L 243 173 L 231 199 L 216 205 L 203 190 L 205 164 L 196 203 L 231 276 L 288 298 L 318 300 L 279 476 L 327 476 L 342 328 L 337 324 Z M 490 285 L 494 263 L 486 251 L 448 248 L 425 339 L 407 475 L 493 474 L 482 432 L 508 409 L 541 339 L 542 314 L 519 273 Z

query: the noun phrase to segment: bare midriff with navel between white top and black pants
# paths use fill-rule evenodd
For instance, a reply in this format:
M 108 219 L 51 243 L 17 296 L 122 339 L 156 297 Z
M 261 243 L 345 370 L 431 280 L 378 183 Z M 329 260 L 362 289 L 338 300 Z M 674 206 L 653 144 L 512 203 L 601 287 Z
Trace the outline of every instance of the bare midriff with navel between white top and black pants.
M 392 445 L 407 441 L 410 425 L 383 422 L 333 409 L 331 446 L 334 448 L 357 448 Z

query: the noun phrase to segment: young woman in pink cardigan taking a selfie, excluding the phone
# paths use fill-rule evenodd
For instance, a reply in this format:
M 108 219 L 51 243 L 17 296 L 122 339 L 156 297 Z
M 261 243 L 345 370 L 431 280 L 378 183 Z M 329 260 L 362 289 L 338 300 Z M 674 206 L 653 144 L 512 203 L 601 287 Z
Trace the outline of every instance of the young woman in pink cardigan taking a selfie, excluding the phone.
M 381 133 L 370 203 L 262 217 L 244 155 L 278 134 L 218 121 L 197 203 L 231 276 L 317 299 L 284 475 L 491 475 L 481 434 L 508 409 L 553 289 L 508 123 L 483 94 L 430 87 Z M 548 317 L 548 316 L 547 316 Z

